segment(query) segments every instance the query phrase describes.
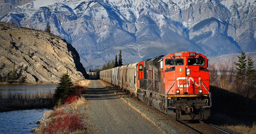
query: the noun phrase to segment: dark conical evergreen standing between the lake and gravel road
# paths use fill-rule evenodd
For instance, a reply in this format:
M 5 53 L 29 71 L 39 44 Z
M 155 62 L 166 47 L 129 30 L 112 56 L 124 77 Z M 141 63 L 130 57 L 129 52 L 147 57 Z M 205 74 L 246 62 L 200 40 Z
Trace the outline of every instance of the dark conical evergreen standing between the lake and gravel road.
M 68 73 L 64 73 L 60 78 L 60 83 L 57 85 L 54 93 L 55 98 L 63 98 L 75 92 L 74 84 L 71 81 Z

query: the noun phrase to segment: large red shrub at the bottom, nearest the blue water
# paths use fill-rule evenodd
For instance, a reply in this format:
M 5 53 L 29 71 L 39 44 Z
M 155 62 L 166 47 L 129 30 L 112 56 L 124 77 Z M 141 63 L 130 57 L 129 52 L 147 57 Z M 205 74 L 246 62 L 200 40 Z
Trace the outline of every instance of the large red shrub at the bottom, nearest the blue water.
M 50 122 L 42 133 L 53 134 L 82 130 L 84 128 L 82 119 L 83 116 L 78 113 L 65 113 L 62 110 L 56 111 L 56 120 L 54 122 Z

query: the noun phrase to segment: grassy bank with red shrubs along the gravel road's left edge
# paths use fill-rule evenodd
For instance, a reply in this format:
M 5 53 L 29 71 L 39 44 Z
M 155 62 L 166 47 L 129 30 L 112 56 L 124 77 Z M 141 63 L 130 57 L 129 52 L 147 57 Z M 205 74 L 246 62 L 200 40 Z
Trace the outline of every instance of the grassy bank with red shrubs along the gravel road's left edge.
M 41 123 L 36 133 L 87 133 L 88 104 L 83 93 L 90 85 L 90 80 L 79 80 L 75 83 L 77 92 L 68 96 L 63 103 L 53 108 L 49 120 Z

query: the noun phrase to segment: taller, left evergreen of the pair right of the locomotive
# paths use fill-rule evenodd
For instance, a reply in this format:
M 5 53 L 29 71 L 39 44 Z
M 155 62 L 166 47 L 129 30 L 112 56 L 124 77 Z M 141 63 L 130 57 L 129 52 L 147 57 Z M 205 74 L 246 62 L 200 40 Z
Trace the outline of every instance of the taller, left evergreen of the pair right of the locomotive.
M 237 66 L 236 69 L 236 78 L 244 77 L 246 75 L 246 56 L 244 52 L 241 52 L 241 56 L 237 56 L 238 61 L 235 63 Z

